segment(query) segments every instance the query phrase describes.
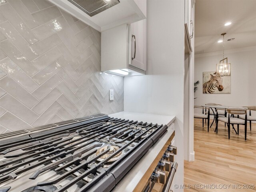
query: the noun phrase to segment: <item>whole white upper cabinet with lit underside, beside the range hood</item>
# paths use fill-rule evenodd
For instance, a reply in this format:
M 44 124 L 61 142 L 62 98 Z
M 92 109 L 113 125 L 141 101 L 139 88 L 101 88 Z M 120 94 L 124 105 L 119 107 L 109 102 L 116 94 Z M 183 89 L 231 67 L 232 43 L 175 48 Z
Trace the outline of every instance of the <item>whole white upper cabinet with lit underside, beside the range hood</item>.
M 121 76 L 146 74 L 146 19 L 102 32 L 101 70 Z

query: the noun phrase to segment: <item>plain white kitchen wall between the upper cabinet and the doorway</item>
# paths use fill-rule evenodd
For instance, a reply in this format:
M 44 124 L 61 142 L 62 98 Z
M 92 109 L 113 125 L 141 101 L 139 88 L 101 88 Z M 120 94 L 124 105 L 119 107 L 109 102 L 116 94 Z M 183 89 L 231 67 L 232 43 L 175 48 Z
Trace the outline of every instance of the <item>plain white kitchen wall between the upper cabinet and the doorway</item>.
M 124 110 L 175 115 L 178 171 L 183 184 L 184 1 L 147 1 L 147 75 L 124 78 Z M 182 191 L 182 190 L 175 190 Z

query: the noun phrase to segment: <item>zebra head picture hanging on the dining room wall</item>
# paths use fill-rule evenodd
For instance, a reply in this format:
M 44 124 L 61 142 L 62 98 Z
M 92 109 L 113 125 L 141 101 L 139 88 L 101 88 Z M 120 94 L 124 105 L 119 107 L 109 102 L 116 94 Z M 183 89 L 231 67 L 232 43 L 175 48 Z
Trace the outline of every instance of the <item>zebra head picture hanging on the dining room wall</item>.
M 230 76 L 216 71 L 203 72 L 203 93 L 230 93 Z

